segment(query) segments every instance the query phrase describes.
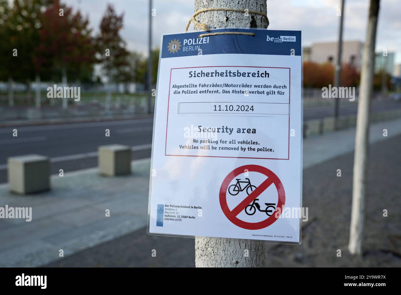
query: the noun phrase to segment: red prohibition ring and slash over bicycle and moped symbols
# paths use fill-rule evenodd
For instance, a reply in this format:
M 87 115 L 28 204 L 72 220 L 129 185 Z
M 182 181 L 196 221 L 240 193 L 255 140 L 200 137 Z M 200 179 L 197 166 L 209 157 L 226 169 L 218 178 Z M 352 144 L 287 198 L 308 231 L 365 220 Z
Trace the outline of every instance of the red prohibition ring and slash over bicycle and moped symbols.
M 249 193 L 249 195 L 247 195 L 247 197 L 245 197 L 245 199 L 243 199 L 243 201 L 241 201 L 233 210 L 230 210 L 227 205 L 228 186 L 235 177 L 244 173 L 245 171 L 262 173 L 263 175 L 267 176 L 267 179 L 263 181 L 261 185 L 259 185 L 256 189 L 254 190 L 251 189 L 251 193 Z M 277 189 L 278 201 L 277 201 L 277 207 L 273 212 L 273 214 L 271 214 L 271 216 L 269 216 L 266 220 L 263 220 L 261 222 L 245 222 L 237 218 L 237 215 L 242 210 L 244 210 L 250 203 L 253 202 L 253 200 L 255 200 L 261 193 L 263 193 L 263 191 L 265 191 L 272 184 L 274 184 Z M 265 228 L 271 225 L 280 216 L 281 209 L 283 208 L 285 202 L 286 202 L 286 193 L 284 191 L 284 187 L 280 179 L 272 171 L 259 165 L 244 165 L 238 167 L 237 169 L 234 169 L 229 173 L 229 175 L 226 176 L 220 187 L 220 205 L 221 209 L 223 210 L 223 213 L 233 224 L 241 228 L 245 228 L 247 230 L 259 230 L 261 228 Z M 276 214 L 276 212 L 279 212 L 279 214 Z

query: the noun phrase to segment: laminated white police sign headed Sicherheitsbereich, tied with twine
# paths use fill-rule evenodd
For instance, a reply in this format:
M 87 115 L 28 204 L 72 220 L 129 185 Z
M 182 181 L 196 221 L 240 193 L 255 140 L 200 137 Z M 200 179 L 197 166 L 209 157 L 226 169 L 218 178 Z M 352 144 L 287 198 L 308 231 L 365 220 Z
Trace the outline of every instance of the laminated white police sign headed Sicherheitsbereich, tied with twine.
M 254 36 L 210 35 L 227 31 Z M 148 233 L 300 243 L 301 31 L 163 35 L 160 51 Z

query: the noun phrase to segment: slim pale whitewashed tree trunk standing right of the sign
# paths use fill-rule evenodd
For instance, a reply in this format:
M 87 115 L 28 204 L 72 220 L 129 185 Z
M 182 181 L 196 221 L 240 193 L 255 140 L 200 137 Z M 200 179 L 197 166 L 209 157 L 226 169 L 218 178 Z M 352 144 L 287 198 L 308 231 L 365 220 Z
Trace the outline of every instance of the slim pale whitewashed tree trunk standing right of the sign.
M 373 92 L 375 70 L 375 42 L 379 0 L 371 0 L 369 20 L 363 48 L 362 71 L 356 121 L 354 176 L 352 180 L 352 210 L 350 240 L 348 250 L 351 254 L 362 254 L 365 222 L 365 195 L 369 157 L 369 111 Z

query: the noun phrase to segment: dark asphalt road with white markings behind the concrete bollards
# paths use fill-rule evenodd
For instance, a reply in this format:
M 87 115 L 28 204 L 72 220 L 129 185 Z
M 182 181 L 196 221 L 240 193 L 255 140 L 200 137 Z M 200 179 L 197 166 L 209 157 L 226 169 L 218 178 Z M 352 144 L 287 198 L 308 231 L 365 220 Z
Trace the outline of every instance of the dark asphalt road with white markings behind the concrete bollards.
M 399 102 L 375 102 L 373 112 L 401 108 Z M 304 108 L 304 120 L 332 116 L 333 108 Z M 356 114 L 356 104 L 345 104 L 340 114 Z M 153 119 L 118 120 L 107 122 L 70 123 L 45 126 L 0 128 L 0 183 L 7 181 L 7 157 L 40 154 L 53 158 L 51 173 L 74 171 L 97 165 L 97 147 L 103 144 L 127 144 L 136 148 L 132 159 L 150 157 Z M 105 129 L 110 137 L 105 136 Z M 89 153 L 89 154 L 87 154 Z

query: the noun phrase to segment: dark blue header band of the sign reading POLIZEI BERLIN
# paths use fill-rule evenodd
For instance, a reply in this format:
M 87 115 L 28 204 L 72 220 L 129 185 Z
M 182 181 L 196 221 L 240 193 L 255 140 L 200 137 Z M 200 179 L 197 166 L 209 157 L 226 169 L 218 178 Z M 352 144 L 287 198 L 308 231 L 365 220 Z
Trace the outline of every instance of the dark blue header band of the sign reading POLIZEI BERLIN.
M 227 31 L 255 33 L 255 37 L 215 35 L 198 38 L 201 34 Z M 162 58 L 227 53 L 300 56 L 301 42 L 301 31 L 225 28 L 179 33 L 163 36 Z

